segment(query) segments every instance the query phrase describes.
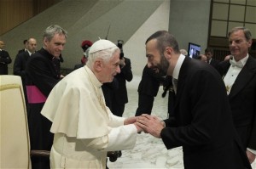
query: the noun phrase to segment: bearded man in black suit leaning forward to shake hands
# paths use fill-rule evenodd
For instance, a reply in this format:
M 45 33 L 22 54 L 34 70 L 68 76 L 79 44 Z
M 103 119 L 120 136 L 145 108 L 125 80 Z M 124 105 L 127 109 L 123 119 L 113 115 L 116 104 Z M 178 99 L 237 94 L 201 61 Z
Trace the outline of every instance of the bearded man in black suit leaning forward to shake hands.
M 144 114 L 137 120 L 139 127 L 161 138 L 167 149 L 183 146 L 185 169 L 251 168 L 218 71 L 180 54 L 175 37 L 167 31 L 148 37 L 146 56 L 151 68 L 174 79 L 175 118 L 160 121 Z

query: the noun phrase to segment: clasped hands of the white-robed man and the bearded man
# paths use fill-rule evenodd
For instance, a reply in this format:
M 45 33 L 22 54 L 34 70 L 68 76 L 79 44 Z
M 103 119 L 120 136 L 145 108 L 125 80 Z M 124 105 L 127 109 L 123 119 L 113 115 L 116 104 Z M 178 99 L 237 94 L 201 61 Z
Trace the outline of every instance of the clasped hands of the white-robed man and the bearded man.
M 157 116 L 143 114 L 125 119 L 125 125 L 134 124 L 137 132 L 146 132 L 155 138 L 161 138 L 160 132 L 166 126 L 164 121 L 160 121 Z

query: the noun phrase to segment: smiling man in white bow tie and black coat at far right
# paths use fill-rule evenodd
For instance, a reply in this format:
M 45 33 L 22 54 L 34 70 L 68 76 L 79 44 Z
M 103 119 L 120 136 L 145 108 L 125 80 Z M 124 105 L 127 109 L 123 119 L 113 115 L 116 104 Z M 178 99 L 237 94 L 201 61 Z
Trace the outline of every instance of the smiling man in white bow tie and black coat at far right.
M 256 60 L 248 54 L 252 34 L 244 27 L 229 32 L 230 60 L 218 65 L 229 94 L 236 131 L 252 163 L 256 155 Z

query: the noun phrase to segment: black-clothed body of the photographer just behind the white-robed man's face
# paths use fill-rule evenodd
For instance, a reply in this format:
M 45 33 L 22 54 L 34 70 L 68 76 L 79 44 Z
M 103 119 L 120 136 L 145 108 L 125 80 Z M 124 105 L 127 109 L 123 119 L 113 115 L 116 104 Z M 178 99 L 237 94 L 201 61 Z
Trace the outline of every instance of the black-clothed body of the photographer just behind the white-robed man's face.
M 115 77 L 118 81 L 118 88 L 113 93 L 113 115 L 122 116 L 125 111 L 125 104 L 128 103 L 126 81 L 131 82 L 131 60 L 125 57 L 120 58 L 121 72 Z

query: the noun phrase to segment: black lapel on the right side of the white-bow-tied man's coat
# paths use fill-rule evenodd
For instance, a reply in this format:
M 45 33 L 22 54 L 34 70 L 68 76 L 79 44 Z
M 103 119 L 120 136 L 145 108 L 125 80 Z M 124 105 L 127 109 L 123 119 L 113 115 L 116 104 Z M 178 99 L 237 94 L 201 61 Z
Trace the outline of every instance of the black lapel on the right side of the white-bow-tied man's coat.
M 241 91 L 247 85 L 247 82 L 253 78 L 256 71 L 256 60 L 249 56 L 247 59 L 246 65 L 241 69 L 241 72 L 236 77 L 236 81 L 234 82 L 229 97 L 232 98 L 236 96 L 237 93 Z

